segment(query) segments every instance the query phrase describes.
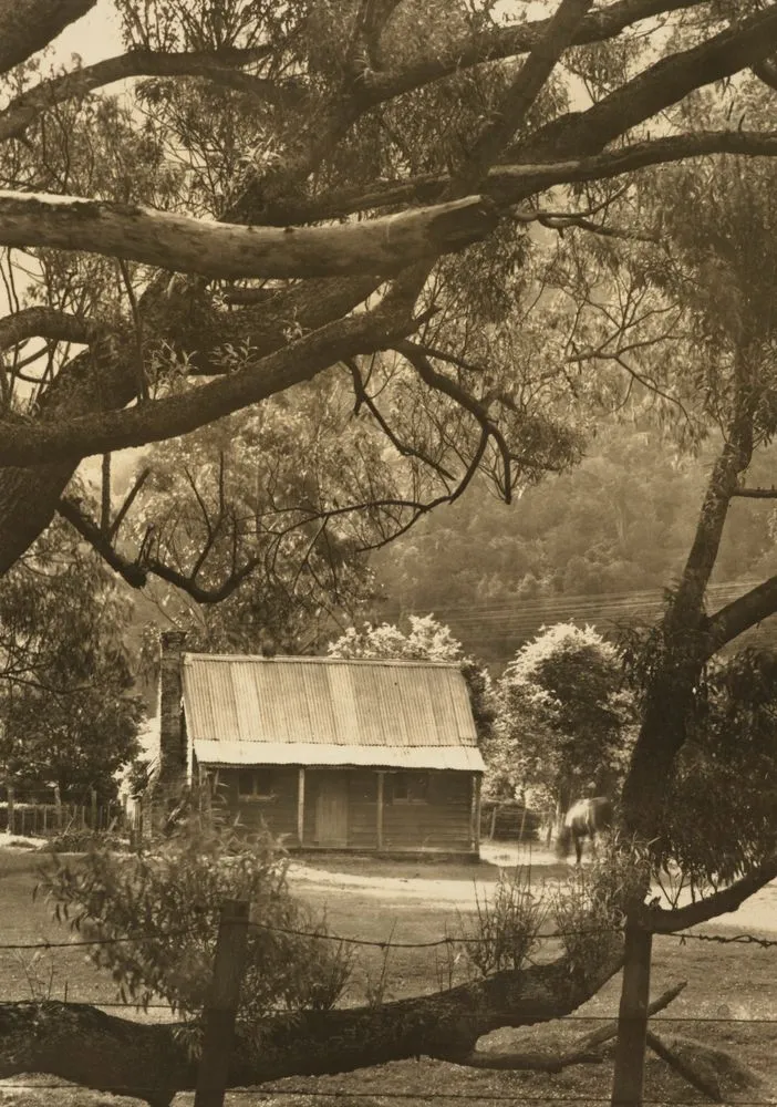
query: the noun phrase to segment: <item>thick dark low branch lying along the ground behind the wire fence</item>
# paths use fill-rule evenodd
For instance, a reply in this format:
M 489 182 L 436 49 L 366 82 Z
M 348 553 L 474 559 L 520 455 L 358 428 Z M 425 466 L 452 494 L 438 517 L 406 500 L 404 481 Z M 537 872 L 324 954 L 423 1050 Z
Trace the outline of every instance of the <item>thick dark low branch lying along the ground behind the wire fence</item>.
M 569 1014 L 621 968 L 614 942 L 583 976 L 567 956 L 435 995 L 377 1007 L 267 1018 L 239 1036 L 229 1086 L 353 1072 L 421 1055 L 466 1064 L 484 1034 Z M 173 1024 L 144 1025 L 87 1004 L 0 1003 L 0 1078 L 48 1073 L 85 1087 L 168 1105 L 196 1066 Z

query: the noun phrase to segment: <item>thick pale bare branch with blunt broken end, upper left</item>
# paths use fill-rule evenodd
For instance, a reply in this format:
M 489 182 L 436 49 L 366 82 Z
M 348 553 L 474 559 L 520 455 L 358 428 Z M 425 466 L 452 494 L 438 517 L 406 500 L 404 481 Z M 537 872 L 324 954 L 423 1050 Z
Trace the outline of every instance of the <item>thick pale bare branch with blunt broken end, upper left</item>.
M 0 190 L 0 245 L 85 250 L 205 277 L 393 273 L 459 250 L 496 226 L 490 200 L 469 196 L 335 227 L 242 227 L 131 204 Z

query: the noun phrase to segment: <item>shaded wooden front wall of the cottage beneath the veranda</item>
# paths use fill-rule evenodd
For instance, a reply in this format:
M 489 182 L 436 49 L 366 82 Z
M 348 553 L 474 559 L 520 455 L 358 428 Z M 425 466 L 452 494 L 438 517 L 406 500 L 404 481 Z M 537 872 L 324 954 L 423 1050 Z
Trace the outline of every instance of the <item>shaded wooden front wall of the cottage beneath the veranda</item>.
M 239 811 L 247 830 L 262 823 L 299 848 L 299 767 L 272 766 L 271 798 L 241 796 L 239 770 L 218 770 L 219 794 Z M 429 770 L 423 798 L 394 788 L 401 774 L 383 772 L 382 826 L 379 829 L 379 772 L 373 768 L 305 768 L 302 848 L 383 852 L 477 850 L 477 777 L 472 773 Z M 396 794 L 395 794 L 396 792 Z M 400 795 L 401 794 L 401 795 Z M 475 834 L 475 840 L 474 840 Z

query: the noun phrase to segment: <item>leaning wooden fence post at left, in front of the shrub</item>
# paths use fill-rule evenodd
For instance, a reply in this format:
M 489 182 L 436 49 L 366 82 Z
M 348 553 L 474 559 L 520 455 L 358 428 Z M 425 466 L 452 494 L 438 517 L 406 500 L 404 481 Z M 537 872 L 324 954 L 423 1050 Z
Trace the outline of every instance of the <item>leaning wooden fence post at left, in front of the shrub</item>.
M 222 1107 L 235 1039 L 235 1018 L 248 943 L 245 900 L 225 900 L 218 923 L 214 975 L 205 1005 L 203 1054 L 194 1107 Z

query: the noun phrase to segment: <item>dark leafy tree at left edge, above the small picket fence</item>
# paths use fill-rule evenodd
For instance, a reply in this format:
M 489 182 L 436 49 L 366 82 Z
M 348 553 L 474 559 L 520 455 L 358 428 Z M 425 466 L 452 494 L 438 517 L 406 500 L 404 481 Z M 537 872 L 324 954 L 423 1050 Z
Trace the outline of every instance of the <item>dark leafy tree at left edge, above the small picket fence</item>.
M 0 758 L 4 784 L 113 798 L 138 752 L 143 704 L 124 644 L 131 604 L 64 524 L 0 581 Z

